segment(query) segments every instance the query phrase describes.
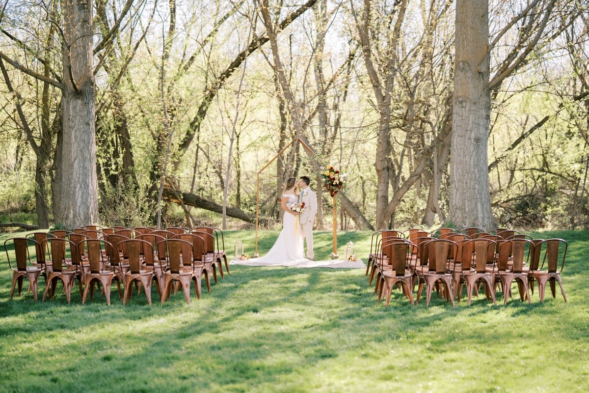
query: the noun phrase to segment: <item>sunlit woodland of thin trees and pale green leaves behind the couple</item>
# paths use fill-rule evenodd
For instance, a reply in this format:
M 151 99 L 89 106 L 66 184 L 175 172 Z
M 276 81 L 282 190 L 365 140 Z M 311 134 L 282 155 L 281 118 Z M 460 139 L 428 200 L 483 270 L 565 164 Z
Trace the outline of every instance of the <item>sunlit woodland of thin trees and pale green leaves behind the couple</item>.
M 64 132 L 67 94 L 84 93 L 64 57 L 78 45 L 67 5 L 77 2 L 2 2 L 2 222 L 59 222 L 57 205 L 92 187 L 83 175 L 63 187 L 62 161 L 91 145 L 104 226 L 235 229 L 258 204 L 273 227 L 285 177 L 303 174 L 327 226 L 322 164 L 348 173 L 342 229 L 451 224 L 455 2 L 97 0 L 80 35 L 95 140 Z M 488 20 L 494 220 L 587 228 L 589 4 L 491 0 Z

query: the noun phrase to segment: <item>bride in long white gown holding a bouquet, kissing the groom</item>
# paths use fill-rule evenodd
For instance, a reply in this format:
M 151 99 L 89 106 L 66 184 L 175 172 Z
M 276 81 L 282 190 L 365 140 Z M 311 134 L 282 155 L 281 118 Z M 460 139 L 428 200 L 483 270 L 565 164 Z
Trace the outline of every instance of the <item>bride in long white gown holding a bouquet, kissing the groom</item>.
M 303 253 L 303 235 L 299 224 L 299 213 L 290 209 L 299 204 L 299 191 L 295 184 L 295 177 L 289 177 L 286 180 L 280 202 L 280 207 L 284 210 L 282 232 L 270 251 L 260 258 L 241 260 L 239 261 L 240 265 L 270 266 L 308 262 Z

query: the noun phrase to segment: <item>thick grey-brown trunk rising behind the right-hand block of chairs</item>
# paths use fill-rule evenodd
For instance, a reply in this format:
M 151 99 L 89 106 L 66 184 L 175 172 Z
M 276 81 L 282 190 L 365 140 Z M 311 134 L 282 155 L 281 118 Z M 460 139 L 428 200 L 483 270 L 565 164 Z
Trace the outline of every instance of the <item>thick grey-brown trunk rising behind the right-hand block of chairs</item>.
M 456 227 L 494 227 L 487 141 L 489 92 L 488 0 L 456 2 L 456 60 L 448 221 Z

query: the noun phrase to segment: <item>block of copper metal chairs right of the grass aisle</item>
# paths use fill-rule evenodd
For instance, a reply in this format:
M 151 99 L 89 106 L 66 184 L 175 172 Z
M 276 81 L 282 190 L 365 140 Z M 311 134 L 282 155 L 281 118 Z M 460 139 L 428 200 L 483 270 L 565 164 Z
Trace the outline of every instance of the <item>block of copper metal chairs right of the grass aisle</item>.
M 438 232 L 438 237 L 433 235 L 421 230 L 411 233 L 385 230 L 373 234 L 366 274 L 369 285 L 376 279 L 375 293 L 379 300 L 386 297 L 386 306 L 395 285 L 403 289 L 412 304 L 415 286 L 418 285 L 417 301 L 425 288 L 427 306 L 434 289 L 454 305 L 455 298 L 461 299 L 464 286 L 468 305 L 481 289 L 488 300 L 497 304 L 498 287 L 507 304 L 514 282 L 521 300 L 528 302 L 531 302 L 530 289 L 533 293 L 537 282 L 542 301 L 547 283 L 555 297 L 558 282 L 567 301 L 561 280 L 568 248 L 565 240 L 531 239 L 512 231 L 502 232 L 505 238 L 484 232 L 477 232 L 472 238 L 454 231 Z

